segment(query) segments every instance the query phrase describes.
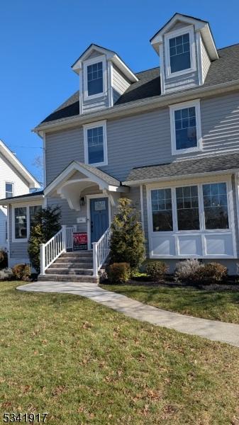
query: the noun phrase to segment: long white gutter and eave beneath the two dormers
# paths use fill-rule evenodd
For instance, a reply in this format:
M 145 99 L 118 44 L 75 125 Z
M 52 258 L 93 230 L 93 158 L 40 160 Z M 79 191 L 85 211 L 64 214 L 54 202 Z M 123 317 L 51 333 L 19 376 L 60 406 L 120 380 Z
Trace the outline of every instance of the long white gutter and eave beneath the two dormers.
M 186 91 L 179 91 L 174 94 L 167 94 L 157 96 L 155 98 L 143 99 L 141 101 L 133 101 L 128 103 L 123 103 L 122 105 L 114 106 L 113 108 L 107 108 L 105 110 L 96 111 L 89 114 L 77 115 L 73 118 L 67 118 L 57 123 L 45 123 L 40 127 L 33 128 L 33 132 L 42 132 L 47 130 L 60 130 L 62 128 L 79 126 L 87 123 L 92 123 L 94 120 L 98 120 L 99 117 L 101 120 L 107 118 L 118 118 L 123 115 L 129 115 L 130 113 L 139 113 L 143 111 L 150 111 L 155 108 L 162 108 L 163 106 L 169 106 L 173 103 L 193 100 L 197 96 L 199 98 L 204 98 L 213 94 L 226 94 L 227 92 L 239 90 L 239 79 L 234 81 L 228 81 L 227 83 L 215 84 L 209 87 L 197 87 L 196 89 L 188 89 Z

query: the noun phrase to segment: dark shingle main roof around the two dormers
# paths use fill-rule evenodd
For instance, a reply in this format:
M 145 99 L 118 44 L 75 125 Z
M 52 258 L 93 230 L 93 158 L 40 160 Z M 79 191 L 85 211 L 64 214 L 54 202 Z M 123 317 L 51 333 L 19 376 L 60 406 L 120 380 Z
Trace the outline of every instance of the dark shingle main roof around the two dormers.
M 211 62 L 211 67 L 201 88 L 239 79 L 239 43 L 219 49 L 218 56 L 218 60 Z M 169 96 L 168 94 L 160 94 L 160 67 L 138 72 L 135 75 L 139 81 L 130 84 L 126 92 L 118 98 L 113 108 L 128 102 L 157 96 Z M 190 90 L 193 89 L 187 89 L 187 91 Z M 76 91 L 59 108 L 48 115 L 37 128 L 45 125 L 45 123 L 60 123 L 77 116 L 79 116 L 79 91 Z

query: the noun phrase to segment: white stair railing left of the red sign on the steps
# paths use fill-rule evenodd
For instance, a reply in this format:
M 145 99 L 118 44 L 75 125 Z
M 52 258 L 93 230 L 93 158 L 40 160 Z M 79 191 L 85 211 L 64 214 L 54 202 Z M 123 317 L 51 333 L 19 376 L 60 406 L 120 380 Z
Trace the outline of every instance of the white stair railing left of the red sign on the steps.
M 40 244 L 40 274 L 45 271 L 67 249 L 73 249 L 73 232 L 76 226 L 65 225 L 46 244 Z

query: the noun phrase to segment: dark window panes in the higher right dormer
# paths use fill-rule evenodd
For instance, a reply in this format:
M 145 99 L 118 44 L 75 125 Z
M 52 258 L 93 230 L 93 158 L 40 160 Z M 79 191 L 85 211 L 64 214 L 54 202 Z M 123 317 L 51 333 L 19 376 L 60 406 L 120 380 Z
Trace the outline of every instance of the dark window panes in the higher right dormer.
M 169 39 L 171 73 L 191 68 L 189 33 Z

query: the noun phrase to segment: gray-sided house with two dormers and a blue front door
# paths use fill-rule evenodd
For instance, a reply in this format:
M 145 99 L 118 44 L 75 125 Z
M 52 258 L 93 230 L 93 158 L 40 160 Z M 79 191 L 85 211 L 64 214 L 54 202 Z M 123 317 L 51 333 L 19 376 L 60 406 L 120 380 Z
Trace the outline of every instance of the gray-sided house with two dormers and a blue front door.
M 93 255 L 96 276 L 121 196 L 140 212 L 148 258 L 171 270 L 179 259 L 221 261 L 237 272 L 239 44 L 218 50 L 208 22 L 179 13 L 150 42 L 160 67 L 136 74 L 112 50 L 84 51 L 72 65 L 79 91 L 34 129 L 44 141 L 44 193 L 1 201 L 14 259 L 27 259 L 29 208 L 62 206 L 66 227 L 42 247 L 48 278 L 73 230 L 87 232 L 94 250 L 84 260 Z M 16 202 L 26 237 L 16 234 Z

